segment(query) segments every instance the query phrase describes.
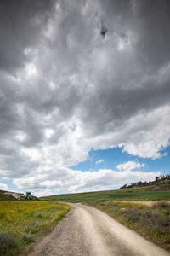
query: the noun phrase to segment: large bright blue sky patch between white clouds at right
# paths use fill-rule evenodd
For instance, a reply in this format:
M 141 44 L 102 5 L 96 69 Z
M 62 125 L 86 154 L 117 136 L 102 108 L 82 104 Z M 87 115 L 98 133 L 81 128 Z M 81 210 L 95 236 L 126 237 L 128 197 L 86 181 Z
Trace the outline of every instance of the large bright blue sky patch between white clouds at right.
M 85 171 L 98 171 L 99 169 L 111 169 L 116 170 L 116 166 L 125 163 L 127 161 L 136 161 L 140 164 L 144 164 L 140 168 L 142 172 L 154 172 L 162 171 L 162 174 L 169 173 L 170 157 L 169 157 L 170 147 L 163 150 L 162 153 L 167 153 L 159 159 L 153 160 L 151 158 L 140 158 L 138 156 L 133 156 L 122 151 L 122 148 L 109 148 L 100 150 L 90 150 L 88 154 L 88 160 L 83 161 L 76 166 L 71 166 L 72 170 Z

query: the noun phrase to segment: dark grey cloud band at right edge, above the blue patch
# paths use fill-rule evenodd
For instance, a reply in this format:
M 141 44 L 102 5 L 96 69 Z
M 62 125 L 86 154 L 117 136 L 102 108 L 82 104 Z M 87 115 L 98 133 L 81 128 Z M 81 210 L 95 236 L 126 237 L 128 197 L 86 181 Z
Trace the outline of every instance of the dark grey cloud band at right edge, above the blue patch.
M 170 96 L 169 80 L 170 76 L 167 76 L 167 80 L 162 83 L 156 76 L 155 79 L 146 82 L 143 86 L 133 88 L 115 86 L 113 90 L 111 87 L 107 87 L 106 79 L 103 83 L 105 84 L 104 88 L 100 88 L 95 96 L 92 96 L 93 100 L 89 96 L 85 101 L 84 122 L 89 122 L 90 126 L 94 124 L 94 134 L 97 134 L 111 129 L 108 126 L 111 122 L 117 128 L 120 122 L 140 111 L 147 112 L 149 109 L 151 111 L 167 105 Z M 105 116 L 102 116 L 103 113 Z

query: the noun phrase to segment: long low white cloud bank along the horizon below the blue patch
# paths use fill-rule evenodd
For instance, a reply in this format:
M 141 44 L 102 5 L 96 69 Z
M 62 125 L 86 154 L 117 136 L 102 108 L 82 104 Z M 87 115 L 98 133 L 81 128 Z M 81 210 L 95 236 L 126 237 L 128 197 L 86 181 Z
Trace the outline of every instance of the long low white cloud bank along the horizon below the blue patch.
M 36 195 L 52 195 L 64 191 L 65 188 L 69 192 L 117 189 L 124 183 L 139 180 L 150 181 L 161 175 L 161 172 L 114 171 L 111 169 L 100 169 L 96 172 L 73 171 L 71 169 L 59 171 L 60 176 L 58 174 L 55 180 L 53 173 L 47 174 L 45 177 L 37 174 L 37 177 L 28 175 L 21 179 L 16 178 L 14 183 L 20 189 L 34 189 Z

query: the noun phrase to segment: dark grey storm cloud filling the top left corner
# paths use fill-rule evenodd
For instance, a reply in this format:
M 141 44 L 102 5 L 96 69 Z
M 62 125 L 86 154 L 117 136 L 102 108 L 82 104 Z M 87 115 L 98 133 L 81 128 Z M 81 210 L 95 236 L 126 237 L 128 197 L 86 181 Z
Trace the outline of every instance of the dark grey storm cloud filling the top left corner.
M 36 47 L 53 15 L 54 1 L 2 0 L 0 2 L 0 68 L 15 73 L 29 61 L 25 49 Z

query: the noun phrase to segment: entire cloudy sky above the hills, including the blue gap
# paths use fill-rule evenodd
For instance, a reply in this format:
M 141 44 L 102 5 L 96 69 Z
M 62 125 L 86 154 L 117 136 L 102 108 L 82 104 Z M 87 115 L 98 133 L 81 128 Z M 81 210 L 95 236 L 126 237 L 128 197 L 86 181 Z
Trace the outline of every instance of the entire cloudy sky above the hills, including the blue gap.
M 54 195 L 170 166 L 170 1 L 0 1 L 0 189 Z

